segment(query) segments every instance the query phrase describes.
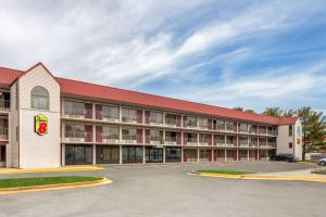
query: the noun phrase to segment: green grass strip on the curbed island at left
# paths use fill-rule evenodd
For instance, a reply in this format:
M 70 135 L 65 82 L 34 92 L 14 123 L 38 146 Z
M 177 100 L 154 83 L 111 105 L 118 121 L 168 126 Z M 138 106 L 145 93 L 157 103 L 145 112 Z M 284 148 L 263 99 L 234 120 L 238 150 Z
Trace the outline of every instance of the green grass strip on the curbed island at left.
M 86 181 L 97 181 L 101 179 L 102 177 L 88 177 L 88 176 L 0 179 L 0 189 L 35 187 L 35 186 L 58 184 L 58 183 L 86 182 Z

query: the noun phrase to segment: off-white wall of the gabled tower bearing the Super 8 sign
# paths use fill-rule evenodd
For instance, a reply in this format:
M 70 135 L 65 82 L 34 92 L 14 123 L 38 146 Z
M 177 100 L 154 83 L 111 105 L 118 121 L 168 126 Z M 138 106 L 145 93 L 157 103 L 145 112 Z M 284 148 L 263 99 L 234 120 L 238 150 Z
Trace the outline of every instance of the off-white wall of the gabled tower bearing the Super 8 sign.
M 18 81 L 20 90 L 20 167 L 52 168 L 60 166 L 60 86 L 53 77 L 38 65 Z M 30 91 L 41 86 L 49 91 L 50 110 L 30 108 Z M 35 116 L 48 117 L 48 133 L 35 132 Z

